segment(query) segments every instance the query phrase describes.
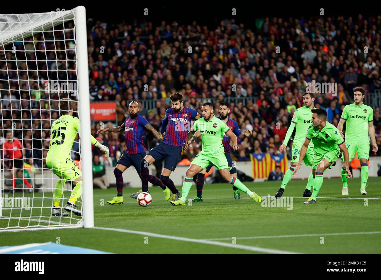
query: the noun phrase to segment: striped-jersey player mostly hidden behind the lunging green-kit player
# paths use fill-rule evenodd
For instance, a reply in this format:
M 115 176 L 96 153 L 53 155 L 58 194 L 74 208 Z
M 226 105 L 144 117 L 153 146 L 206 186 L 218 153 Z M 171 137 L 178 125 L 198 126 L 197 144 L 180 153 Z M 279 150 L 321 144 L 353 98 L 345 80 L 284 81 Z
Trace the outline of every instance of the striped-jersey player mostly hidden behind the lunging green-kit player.
M 246 130 L 243 133 L 241 132 L 237 122 L 235 122 L 234 120 L 232 120 L 231 118 L 228 117 L 228 115 L 230 114 L 229 107 L 230 107 L 229 103 L 221 102 L 219 105 L 219 115 L 220 116 L 217 118 L 219 118 L 224 123 L 226 123 L 226 125 L 229 126 L 230 130 L 233 131 L 235 136 L 237 136 L 240 139 L 245 139 L 248 136 L 250 136 L 251 134 L 253 134 L 250 130 Z M 195 139 L 195 138 L 199 137 L 200 135 L 201 135 L 201 132 L 197 131 L 193 137 Z M 227 163 L 229 164 L 229 166 L 232 167 L 232 169 L 230 170 L 230 174 L 234 178 L 237 178 L 237 170 L 236 170 L 236 166 L 235 166 L 236 163 L 232 159 L 232 155 L 231 155 L 232 147 L 230 146 L 230 142 L 231 142 L 230 137 L 224 133 L 224 137 L 222 139 L 222 144 L 223 144 L 224 149 L 225 149 L 225 156 L 227 159 Z M 205 181 L 205 172 L 209 172 L 210 169 L 212 168 L 212 166 L 213 165 L 209 165 L 206 169 L 204 169 L 199 174 L 197 174 L 197 180 L 196 180 L 197 195 L 195 196 L 195 198 L 193 198 L 192 202 L 203 201 L 203 199 L 202 199 L 202 188 L 204 186 L 204 181 Z M 239 189 L 237 189 L 235 186 L 233 186 L 233 192 L 234 192 L 234 198 L 240 199 Z

